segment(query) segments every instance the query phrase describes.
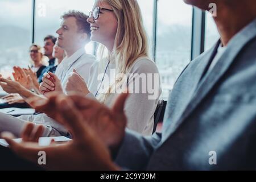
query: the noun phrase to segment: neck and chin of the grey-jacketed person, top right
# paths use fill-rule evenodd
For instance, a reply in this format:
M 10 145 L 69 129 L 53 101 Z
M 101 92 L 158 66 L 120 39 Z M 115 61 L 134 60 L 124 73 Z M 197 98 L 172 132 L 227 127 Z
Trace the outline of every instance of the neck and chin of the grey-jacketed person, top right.
M 226 46 L 234 35 L 255 18 L 255 0 L 233 1 L 229 3 L 219 1 L 217 4 L 217 16 L 214 17 L 214 21 L 220 32 L 223 46 Z

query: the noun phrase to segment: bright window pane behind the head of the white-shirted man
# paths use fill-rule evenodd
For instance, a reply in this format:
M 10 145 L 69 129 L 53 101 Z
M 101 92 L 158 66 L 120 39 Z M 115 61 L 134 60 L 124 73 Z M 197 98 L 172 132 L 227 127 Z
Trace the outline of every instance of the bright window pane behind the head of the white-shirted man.
M 60 16 L 69 10 L 79 10 L 89 15 L 94 0 L 36 0 L 35 43 L 43 46 L 47 35 L 57 37 L 56 30 L 61 24 Z M 93 53 L 93 43 L 86 46 L 86 52 Z

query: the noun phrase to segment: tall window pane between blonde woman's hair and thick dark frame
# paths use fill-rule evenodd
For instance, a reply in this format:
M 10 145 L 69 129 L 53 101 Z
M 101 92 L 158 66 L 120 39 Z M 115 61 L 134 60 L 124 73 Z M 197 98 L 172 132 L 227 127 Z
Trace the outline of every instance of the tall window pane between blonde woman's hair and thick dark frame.
M 192 7 L 183 1 L 158 1 L 156 64 L 167 99 L 177 77 L 191 60 Z

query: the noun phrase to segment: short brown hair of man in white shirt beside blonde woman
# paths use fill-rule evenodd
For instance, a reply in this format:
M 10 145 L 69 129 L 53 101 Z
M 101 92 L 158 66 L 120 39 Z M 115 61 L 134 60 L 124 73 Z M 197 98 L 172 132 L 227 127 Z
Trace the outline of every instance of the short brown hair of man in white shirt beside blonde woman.
M 61 16 L 61 19 L 66 19 L 69 17 L 76 18 L 79 31 L 85 32 L 88 35 L 88 38 L 90 38 L 90 23 L 87 22 L 89 16 L 82 13 L 81 11 L 69 10 L 67 13 L 64 13 L 64 15 Z

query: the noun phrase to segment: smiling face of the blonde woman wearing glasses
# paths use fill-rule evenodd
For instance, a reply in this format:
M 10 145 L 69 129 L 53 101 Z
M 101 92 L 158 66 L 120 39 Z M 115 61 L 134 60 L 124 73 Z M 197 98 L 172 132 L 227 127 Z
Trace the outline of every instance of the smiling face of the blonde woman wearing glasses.
M 112 10 L 112 7 L 106 2 L 96 1 L 93 10 L 97 7 Z M 91 40 L 104 44 L 106 47 L 113 47 L 118 25 L 114 12 L 101 9 L 98 19 L 94 20 L 90 16 L 87 21 L 90 23 L 92 31 Z

